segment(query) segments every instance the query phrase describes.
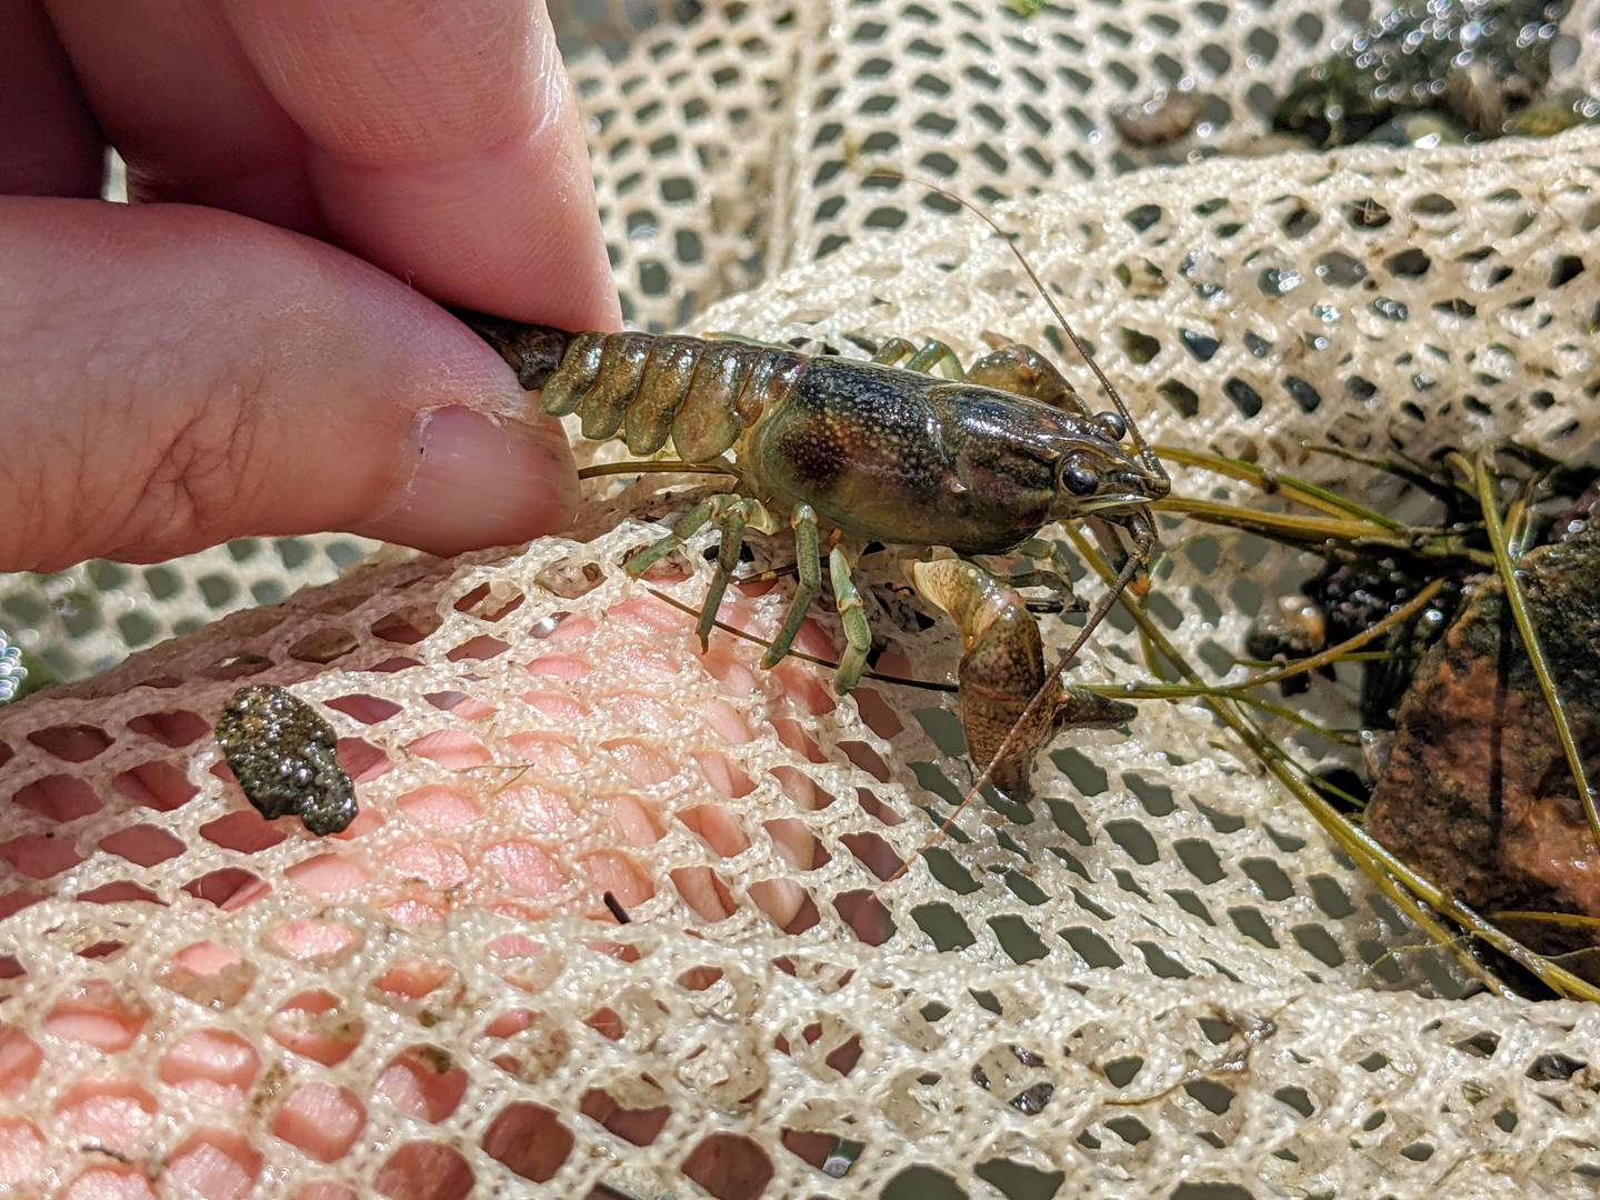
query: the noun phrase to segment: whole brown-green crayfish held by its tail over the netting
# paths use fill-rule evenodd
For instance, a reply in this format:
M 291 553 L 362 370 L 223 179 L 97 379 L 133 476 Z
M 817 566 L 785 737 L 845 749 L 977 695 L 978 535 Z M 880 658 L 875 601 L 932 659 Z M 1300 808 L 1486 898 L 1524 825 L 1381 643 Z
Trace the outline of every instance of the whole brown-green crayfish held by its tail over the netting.
M 862 550 L 880 542 L 914 558 L 954 552 L 952 566 L 914 566 L 910 582 L 962 629 L 962 720 L 984 778 L 1022 797 L 1034 755 L 1064 715 L 1099 725 L 1126 718 L 1126 706 L 1085 709 L 1082 694 L 1059 686 L 1067 661 L 1149 560 L 1157 539 L 1149 504 L 1170 486 L 1098 368 L 1115 411 L 1093 413 L 1048 360 L 1016 344 L 963 371 L 936 341 L 915 347 L 893 339 L 872 362 L 854 362 L 747 341 L 566 333 L 461 317 L 525 389 L 541 392 L 544 413 L 576 414 L 586 438 L 622 438 L 640 456 L 670 440 L 682 462 L 725 464 L 738 480 L 736 491 L 707 498 L 627 563 L 630 574 L 643 574 L 685 538 L 717 525 L 722 546 L 701 613 L 702 643 L 746 531 L 776 533 L 782 514 L 794 528 L 798 584 L 763 666 L 789 653 L 822 590 L 824 547 L 846 642 L 840 693 L 861 678 L 872 640 L 851 579 Z M 1070 328 L 1067 334 L 1077 344 Z M 1022 597 L 974 555 L 1016 554 L 1042 526 L 1078 518 L 1093 518 L 1104 538 L 1122 526 L 1131 546 L 1117 582 L 1046 674 Z M 1029 586 L 1059 584 L 1048 571 L 1034 576 L 1043 582 Z

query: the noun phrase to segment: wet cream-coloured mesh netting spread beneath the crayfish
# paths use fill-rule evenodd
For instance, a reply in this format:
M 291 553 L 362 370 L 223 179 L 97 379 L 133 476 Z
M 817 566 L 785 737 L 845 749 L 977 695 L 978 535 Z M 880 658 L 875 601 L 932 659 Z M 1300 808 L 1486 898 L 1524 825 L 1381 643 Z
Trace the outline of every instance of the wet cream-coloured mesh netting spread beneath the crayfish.
M 1365 5 L 555 16 L 635 325 L 1048 344 L 1005 245 L 866 179 L 888 165 L 992 205 L 1152 440 L 1378 507 L 1304 443 L 1592 459 L 1600 134 L 1285 150 L 1270 96 Z M 1597 61 L 1579 5 L 1555 70 Z M 1192 133 L 1117 136 L 1112 109 L 1189 77 Z M 677 574 L 621 570 L 686 491 L 597 490 L 568 538 L 379 558 L 270 608 L 365 547 L 5 581 L 0 624 L 62 674 L 123 659 L 0 709 L 11 1194 L 1594 1190 L 1600 1011 L 1469 994 L 1198 704 L 1064 734 L 1030 806 L 978 803 L 918 858 L 973 778 L 947 698 L 837 699 L 826 667 L 762 670 L 728 632 L 701 653 L 669 600 L 699 603 L 710 534 Z M 1294 560 L 1163 536 L 1150 611 L 1240 678 Z M 949 629 L 890 565 L 862 576 L 875 664 L 950 678 Z M 723 621 L 770 635 L 789 589 Z M 800 648 L 837 645 L 824 605 Z M 1133 626 L 1070 677 L 1147 678 Z M 346 832 L 269 824 L 227 773 L 213 725 L 262 682 L 333 723 Z

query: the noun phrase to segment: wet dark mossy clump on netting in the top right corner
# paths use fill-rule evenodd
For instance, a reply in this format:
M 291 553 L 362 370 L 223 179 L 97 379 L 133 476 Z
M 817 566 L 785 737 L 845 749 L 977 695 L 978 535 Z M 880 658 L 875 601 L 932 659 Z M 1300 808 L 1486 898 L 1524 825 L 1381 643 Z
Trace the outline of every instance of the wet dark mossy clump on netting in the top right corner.
M 1442 114 L 1480 139 L 1549 134 L 1590 120 L 1586 98 L 1546 96 L 1550 46 L 1566 6 L 1566 0 L 1397 5 L 1301 70 L 1272 128 L 1328 147 L 1379 131 L 1386 141 L 1411 138 L 1403 118 L 1424 112 Z

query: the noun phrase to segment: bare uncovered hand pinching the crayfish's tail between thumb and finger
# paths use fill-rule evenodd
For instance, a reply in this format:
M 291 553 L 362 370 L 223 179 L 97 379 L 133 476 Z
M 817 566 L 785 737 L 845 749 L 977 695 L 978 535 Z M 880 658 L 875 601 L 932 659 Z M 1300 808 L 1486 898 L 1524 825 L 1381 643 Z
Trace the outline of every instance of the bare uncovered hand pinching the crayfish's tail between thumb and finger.
M 542 5 L 0 10 L 0 570 L 562 528 L 558 426 L 429 298 L 618 322 Z

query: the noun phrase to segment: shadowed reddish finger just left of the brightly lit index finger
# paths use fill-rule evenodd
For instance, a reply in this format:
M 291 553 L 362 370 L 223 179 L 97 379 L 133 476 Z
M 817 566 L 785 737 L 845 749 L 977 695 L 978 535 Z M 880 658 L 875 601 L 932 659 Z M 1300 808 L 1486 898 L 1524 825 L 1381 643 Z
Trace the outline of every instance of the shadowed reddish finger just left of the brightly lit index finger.
M 51 0 L 50 14 L 131 200 L 226 208 L 322 232 L 299 126 L 211 0 Z

